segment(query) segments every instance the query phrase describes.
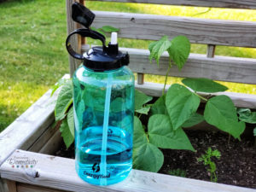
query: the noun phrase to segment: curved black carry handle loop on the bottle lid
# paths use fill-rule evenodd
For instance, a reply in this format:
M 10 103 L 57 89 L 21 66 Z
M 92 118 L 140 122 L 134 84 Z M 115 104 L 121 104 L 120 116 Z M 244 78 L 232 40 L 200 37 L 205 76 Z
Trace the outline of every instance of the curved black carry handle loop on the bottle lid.
M 93 31 L 93 30 L 90 30 L 90 29 L 77 29 L 77 30 L 73 31 L 72 33 L 70 33 L 67 36 L 67 40 L 66 40 L 66 48 L 67 48 L 68 53 L 70 55 L 72 55 L 76 59 L 83 60 L 84 56 L 79 54 L 79 53 L 77 53 L 77 52 L 75 52 L 73 47 L 70 44 L 70 38 L 74 34 L 79 34 L 79 35 L 81 35 L 84 38 L 88 37 L 88 38 L 99 39 L 99 40 L 102 41 L 103 51 L 105 52 L 106 49 L 107 49 L 106 45 L 105 45 L 106 39 L 105 39 L 105 37 L 100 32 L 96 32 L 96 31 Z

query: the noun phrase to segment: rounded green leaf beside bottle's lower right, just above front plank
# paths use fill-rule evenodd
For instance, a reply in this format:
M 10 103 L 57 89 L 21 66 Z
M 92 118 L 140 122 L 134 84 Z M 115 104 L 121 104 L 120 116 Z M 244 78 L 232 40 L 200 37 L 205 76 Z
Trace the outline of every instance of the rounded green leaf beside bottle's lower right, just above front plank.
M 148 172 L 158 172 L 164 163 L 164 155 L 151 143 L 134 148 L 132 158 L 133 168 Z

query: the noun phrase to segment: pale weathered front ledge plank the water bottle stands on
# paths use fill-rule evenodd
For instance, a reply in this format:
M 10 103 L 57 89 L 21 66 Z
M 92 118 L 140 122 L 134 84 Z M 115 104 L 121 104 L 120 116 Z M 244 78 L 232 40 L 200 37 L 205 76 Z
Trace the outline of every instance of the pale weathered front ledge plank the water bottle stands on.
M 74 160 L 16 150 L 10 158 L 26 157 L 38 160 L 32 169 L 14 169 L 8 161 L 1 166 L 2 177 L 21 183 L 41 185 L 53 189 L 71 191 L 136 191 L 136 192 L 255 192 L 255 189 L 235 187 L 231 185 L 210 183 L 195 179 L 173 177 L 153 172 L 132 170 L 125 181 L 107 187 L 91 185 L 82 181 L 75 172 Z M 37 172 L 38 177 L 33 177 L 30 172 Z

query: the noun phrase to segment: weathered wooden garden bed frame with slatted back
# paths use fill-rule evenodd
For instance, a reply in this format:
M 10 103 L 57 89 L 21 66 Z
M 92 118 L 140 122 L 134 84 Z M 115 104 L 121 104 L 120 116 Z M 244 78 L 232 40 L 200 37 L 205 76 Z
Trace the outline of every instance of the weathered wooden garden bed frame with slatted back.
M 105 0 L 111 1 L 111 0 Z M 71 4 L 67 0 L 67 32 L 77 27 L 71 20 Z M 79 1 L 84 3 L 84 1 Z M 221 8 L 256 9 L 254 0 L 115 0 L 115 2 L 158 3 Z M 172 68 L 170 76 L 205 77 L 215 80 L 256 84 L 256 60 L 215 56 L 216 45 L 256 47 L 256 23 L 230 20 L 202 20 L 195 18 L 162 15 L 125 14 L 97 11 L 94 26 L 110 25 L 120 28 L 121 38 L 142 38 L 158 40 L 162 34 L 173 38 L 186 35 L 191 43 L 207 44 L 207 55 L 190 54 L 189 61 L 182 71 Z M 150 25 L 149 25 L 150 24 Z M 153 25 L 154 26 L 153 26 Z M 131 26 L 134 30 L 130 30 Z M 154 27 L 154 28 L 153 28 Z M 83 51 L 84 39 L 73 39 L 76 49 Z M 131 70 L 137 73 L 137 89 L 150 96 L 160 96 L 163 84 L 146 83 L 144 73 L 165 75 L 167 55 L 160 60 L 160 67 L 150 64 L 148 50 L 129 49 Z M 79 61 L 70 59 L 70 73 L 78 67 Z M 68 76 L 68 75 L 67 75 Z M 67 78 L 66 76 L 66 78 Z M 166 87 L 166 90 L 168 87 Z M 100 187 L 83 182 L 76 174 L 74 160 L 55 157 L 61 144 L 61 134 L 54 123 L 55 98 L 50 90 L 31 108 L 0 134 L 0 192 L 55 192 L 55 191 L 176 191 L 176 192 L 246 192 L 255 189 L 204 182 L 195 179 L 172 177 L 159 173 L 132 170 L 124 182 Z M 204 95 L 204 93 L 201 93 Z M 222 93 L 218 93 L 222 94 Z M 236 107 L 256 108 L 256 96 L 237 93 L 224 93 L 230 96 Z M 32 168 L 13 168 L 12 158 L 38 160 Z

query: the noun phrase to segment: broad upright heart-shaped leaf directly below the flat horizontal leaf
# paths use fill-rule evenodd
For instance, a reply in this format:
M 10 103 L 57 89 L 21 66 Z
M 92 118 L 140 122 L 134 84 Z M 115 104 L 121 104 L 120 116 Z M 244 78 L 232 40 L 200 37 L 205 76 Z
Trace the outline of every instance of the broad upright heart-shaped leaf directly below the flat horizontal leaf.
M 166 94 L 166 108 L 172 121 L 172 127 L 177 130 L 196 112 L 200 98 L 181 84 L 172 84 Z

